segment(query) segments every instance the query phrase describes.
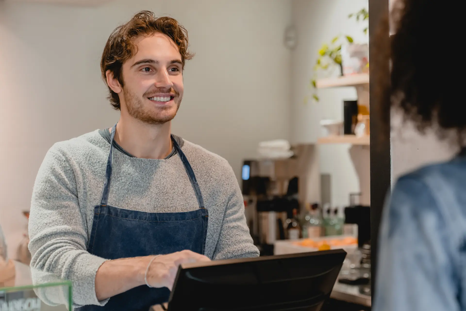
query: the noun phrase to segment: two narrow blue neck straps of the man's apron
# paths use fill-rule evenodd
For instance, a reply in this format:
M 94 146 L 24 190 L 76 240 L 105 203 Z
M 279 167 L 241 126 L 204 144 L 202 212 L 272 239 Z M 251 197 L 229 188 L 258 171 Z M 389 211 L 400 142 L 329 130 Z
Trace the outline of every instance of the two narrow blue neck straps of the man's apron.
M 115 131 L 117 130 L 117 124 L 112 127 L 110 132 L 110 152 L 109 157 L 107 159 L 107 167 L 105 169 L 105 181 L 103 183 L 103 190 L 102 190 L 102 197 L 100 200 L 100 205 L 107 205 L 109 200 L 109 191 L 110 191 L 110 180 L 112 176 L 112 162 L 113 162 L 113 140 L 115 138 Z M 188 174 L 189 180 L 191 181 L 192 188 L 194 189 L 194 193 L 196 194 L 196 198 L 198 200 L 199 208 L 204 208 L 204 200 L 202 198 L 201 190 L 199 188 L 198 181 L 196 180 L 196 176 L 194 175 L 194 171 L 192 170 L 191 164 L 189 163 L 188 159 L 185 156 L 185 153 L 181 151 L 181 147 L 178 145 L 178 142 L 170 135 L 171 141 L 173 143 L 173 147 L 178 153 L 178 156 L 183 162 L 185 166 L 186 173 Z

